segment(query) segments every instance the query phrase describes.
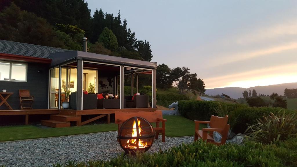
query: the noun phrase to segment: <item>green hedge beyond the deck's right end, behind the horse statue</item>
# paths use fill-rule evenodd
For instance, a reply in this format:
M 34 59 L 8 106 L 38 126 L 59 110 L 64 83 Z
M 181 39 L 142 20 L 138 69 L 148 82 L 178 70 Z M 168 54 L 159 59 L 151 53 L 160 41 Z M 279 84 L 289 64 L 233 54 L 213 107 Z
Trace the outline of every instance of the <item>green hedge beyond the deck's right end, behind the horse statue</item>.
M 181 100 L 189 100 L 186 95 L 170 91 L 156 92 L 156 99 L 157 105 L 162 105 L 164 107 L 167 107 L 168 105 L 176 101 L 178 101 L 179 103 L 179 101 Z

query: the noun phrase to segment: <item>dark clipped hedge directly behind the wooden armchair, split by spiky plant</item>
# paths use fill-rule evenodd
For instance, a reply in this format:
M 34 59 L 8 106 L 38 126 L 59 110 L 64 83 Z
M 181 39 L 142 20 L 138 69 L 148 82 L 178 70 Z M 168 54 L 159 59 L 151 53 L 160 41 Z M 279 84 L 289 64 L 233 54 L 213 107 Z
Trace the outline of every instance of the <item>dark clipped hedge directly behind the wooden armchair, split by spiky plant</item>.
M 235 133 L 244 133 L 247 129 L 248 124 L 255 125 L 258 118 L 262 118 L 264 115 L 269 114 L 270 112 L 276 113 L 283 108 L 274 108 L 274 107 L 249 107 L 243 104 L 232 104 L 226 103 L 231 109 L 238 109 L 240 115 L 238 117 L 238 123 L 233 128 Z M 178 110 L 184 117 L 191 120 L 202 120 L 209 121 L 211 115 L 217 115 L 214 111 L 214 108 L 218 106 L 216 101 L 180 101 L 178 103 Z M 286 110 L 287 112 L 293 112 L 292 110 Z

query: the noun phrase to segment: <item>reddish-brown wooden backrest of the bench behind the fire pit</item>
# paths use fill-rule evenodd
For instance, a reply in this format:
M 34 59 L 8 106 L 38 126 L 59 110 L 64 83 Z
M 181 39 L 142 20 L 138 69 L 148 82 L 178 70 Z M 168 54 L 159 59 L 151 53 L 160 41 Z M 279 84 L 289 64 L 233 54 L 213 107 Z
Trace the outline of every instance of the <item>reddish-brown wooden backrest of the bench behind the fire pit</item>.
M 127 111 L 116 111 L 115 112 L 115 124 L 121 124 L 122 122 L 119 122 L 119 120 L 127 120 L 131 117 L 138 116 L 143 117 L 144 119 L 148 120 L 149 122 L 161 122 L 158 119 L 162 119 L 162 111 L 157 110 L 154 112 L 150 111 L 139 111 L 139 112 L 127 112 Z

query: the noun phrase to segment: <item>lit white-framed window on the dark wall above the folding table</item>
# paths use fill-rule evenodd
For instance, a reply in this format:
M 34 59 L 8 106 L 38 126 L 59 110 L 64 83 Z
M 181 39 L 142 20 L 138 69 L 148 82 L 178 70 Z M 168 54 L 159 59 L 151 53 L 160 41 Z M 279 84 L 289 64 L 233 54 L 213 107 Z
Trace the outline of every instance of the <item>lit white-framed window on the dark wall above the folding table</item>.
M 1 81 L 27 81 L 27 64 L 0 61 Z

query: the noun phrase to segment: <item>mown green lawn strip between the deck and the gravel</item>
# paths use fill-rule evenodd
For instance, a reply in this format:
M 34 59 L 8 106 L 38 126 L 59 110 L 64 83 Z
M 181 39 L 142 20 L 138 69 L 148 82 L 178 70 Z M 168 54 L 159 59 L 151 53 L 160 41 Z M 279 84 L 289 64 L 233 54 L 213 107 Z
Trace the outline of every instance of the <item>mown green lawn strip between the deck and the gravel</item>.
M 165 115 L 163 117 L 164 119 L 167 119 L 166 136 L 178 137 L 194 135 L 194 121 L 186 119 L 182 116 Z M 4 126 L 0 127 L 0 141 L 78 135 L 114 130 L 118 130 L 118 126 L 114 123 L 62 128 L 42 128 L 32 125 Z

